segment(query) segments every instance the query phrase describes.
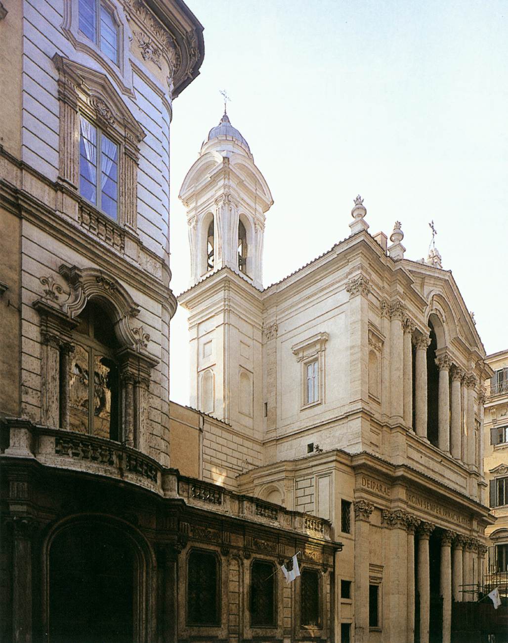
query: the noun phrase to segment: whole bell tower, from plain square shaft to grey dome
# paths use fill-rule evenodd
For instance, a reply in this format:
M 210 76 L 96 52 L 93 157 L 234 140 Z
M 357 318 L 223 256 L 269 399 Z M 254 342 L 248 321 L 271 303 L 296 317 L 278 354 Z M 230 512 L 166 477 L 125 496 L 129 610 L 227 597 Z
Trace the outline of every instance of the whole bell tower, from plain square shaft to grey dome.
M 263 426 L 263 234 L 272 195 L 245 138 L 224 111 L 180 188 L 191 284 L 191 405 L 245 436 Z M 258 436 L 261 439 L 261 434 Z

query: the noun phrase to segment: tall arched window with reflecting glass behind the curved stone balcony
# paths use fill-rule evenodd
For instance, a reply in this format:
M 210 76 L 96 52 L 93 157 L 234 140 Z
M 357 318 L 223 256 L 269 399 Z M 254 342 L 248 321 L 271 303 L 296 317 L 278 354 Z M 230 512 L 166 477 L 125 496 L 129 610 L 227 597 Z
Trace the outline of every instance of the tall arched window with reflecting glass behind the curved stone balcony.
M 69 429 L 120 440 L 118 341 L 113 325 L 93 301 L 77 321 L 69 359 Z

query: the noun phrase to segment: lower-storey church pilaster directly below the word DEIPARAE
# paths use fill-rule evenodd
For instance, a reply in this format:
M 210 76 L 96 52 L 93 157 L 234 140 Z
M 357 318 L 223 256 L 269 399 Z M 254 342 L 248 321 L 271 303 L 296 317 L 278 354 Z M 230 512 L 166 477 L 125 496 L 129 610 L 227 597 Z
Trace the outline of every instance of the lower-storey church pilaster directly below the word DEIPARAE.
M 374 505 L 355 500 L 355 643 L 369 640 L 369 522 Z

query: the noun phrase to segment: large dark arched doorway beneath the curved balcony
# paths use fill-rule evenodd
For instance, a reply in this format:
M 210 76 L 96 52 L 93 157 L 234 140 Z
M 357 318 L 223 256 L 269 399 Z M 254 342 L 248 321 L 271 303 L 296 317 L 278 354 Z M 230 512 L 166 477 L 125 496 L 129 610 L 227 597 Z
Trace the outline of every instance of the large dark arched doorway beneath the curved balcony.
M 49 549 L 49 641 L 134 640 L 136 554 L 119 529 L 79 523 Z

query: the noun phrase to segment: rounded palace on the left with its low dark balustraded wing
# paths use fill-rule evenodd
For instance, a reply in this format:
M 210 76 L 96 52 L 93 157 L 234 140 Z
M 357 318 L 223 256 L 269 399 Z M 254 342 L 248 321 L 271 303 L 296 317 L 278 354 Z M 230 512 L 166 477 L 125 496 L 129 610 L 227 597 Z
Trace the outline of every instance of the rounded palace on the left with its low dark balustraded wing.
M 5 642 L 331 638 L 329 521 L 200 479 L 186 449 L 227 425 L 170 417 L 170 122 L 202 31 L 182 0 L 0 3 Z

